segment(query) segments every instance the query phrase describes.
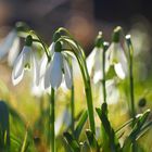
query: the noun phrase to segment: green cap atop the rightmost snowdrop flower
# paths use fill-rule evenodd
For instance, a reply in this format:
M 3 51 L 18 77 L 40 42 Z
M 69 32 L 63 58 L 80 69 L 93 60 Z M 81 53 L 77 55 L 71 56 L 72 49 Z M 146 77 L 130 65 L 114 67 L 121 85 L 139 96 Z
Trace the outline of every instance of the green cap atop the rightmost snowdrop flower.
M 113 36 L 112 36 L 113 42 L 119 42 L 121 33 L 122 33 L 122 27 L 121 27 L 121 26 L 117 26 L 117 27 L 113 30 Z

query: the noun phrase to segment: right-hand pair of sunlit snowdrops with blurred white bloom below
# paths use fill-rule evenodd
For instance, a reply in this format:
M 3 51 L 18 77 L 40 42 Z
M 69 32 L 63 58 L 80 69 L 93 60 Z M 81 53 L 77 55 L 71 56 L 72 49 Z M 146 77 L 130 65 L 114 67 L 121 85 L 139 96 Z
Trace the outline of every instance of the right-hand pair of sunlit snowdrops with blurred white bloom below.
M 128 75 L 128 64 L 125 51 L 121 45 L 121 27 L 116 27 L 113 33 L 113 41 L 110 47 L 104 50 L 103 49 L 103 39 L 101 31 L 97 37 L 97 45 L 92 52 L 87 58 L 87 66 L 90 76 L 94 84 L 98 84 L 103 80 L 103 51 L 105 51 L 104 59 L 104 71 L 105 71 L 105 87 L 106 87 L 106 96 L 109 103 L 116 103 L 119 98 L 119 91 L 117 89 L 117 78 L 125 79 Z M 101 40 L 102 39 L 102 40 Z M 106 75 L 111 71 L 111 67 L 114 68 L 115 76 L 111 79 L 106 79 Z M 117 76 L 117 78 L 116 78 Z M 100 85 L 101 86 L 101 85 Z M 103 98 L 101 94 L 102 88 L 100 90 L 100 100 Z M 113 91 L 112 91 L 113 90 Z M 116 93 L 115 93 L 116 92 Z M 113 100 L 113 102 L 111 102 Z

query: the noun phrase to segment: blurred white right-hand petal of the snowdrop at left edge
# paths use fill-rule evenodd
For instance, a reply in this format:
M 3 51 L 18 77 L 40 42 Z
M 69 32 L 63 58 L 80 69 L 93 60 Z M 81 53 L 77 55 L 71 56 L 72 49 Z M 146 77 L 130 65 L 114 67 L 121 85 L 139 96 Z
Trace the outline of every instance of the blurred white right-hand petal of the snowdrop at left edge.
M 20 53 L 20 38 L 16 37 L 8 55 L 8 63 L 10 66 L 12 66 Z

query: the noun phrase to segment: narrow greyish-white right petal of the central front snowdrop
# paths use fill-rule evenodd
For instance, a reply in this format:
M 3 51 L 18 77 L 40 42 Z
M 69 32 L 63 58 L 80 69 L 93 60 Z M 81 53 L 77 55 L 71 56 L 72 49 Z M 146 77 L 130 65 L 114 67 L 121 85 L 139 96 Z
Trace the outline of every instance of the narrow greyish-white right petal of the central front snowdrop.
M 72 69 L 71 67 L 68 66 L 68 63 L 65 59 L 63 59 L 63 64 L 64 64 L 64 78 L 65 78 L 65 84 L 66 84 L 66 87 L 68 89 L 72 88 L 72 81 L 73 81 L 73 78 L 72 78 Z

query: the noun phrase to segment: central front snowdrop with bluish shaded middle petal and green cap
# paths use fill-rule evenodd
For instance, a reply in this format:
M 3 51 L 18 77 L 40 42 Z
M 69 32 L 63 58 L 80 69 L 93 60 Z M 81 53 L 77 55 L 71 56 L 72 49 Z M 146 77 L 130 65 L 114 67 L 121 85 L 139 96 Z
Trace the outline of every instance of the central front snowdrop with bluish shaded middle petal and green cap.
M 62 46 L 60 42 L 55 42 L 54 52 L 50 63 L 48 64 L 45 74 L 45 89 L 50 86 L 53 89 L 58 89 L 64 77 L 66 87 L 72 88 L 72 72 L 66 60 L 66 55 L 62 52 Z

